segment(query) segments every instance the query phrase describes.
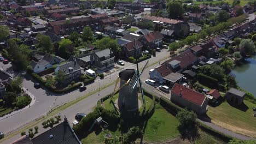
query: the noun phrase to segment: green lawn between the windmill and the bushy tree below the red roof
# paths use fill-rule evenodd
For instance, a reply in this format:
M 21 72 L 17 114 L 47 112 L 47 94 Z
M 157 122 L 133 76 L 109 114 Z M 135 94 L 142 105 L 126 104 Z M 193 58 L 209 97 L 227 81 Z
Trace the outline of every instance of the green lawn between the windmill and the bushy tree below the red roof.
M 179 135 L 177 126 L 178 119 L 157 104 L 155 113 L 148 121 L 144 140 L 160 141 L 174 138 Z

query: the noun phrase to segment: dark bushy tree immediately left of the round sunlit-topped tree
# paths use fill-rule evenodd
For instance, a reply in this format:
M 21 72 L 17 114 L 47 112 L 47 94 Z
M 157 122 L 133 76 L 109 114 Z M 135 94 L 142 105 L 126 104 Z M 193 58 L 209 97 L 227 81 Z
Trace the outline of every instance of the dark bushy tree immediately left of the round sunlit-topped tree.
M 52 53 L 54 45 L 52 44 L 51 38 L 48 35 L 43 35 L 41 33 L 37 34 L 38 44 L 37 47 L 39 51 Z

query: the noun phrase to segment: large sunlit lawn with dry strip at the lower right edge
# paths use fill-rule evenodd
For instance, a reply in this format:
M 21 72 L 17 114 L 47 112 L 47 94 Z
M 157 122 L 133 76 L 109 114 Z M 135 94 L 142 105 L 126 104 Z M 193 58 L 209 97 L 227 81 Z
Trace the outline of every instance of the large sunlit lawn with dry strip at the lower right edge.
M 256 137 L 256 118 L 253 116 L 253 107 L 255 104 L 244 100 L 248 107 L 246 111 L 236 109 L 224 102 L 217 107 L 208 107 L 207 115 L 212 122 L 226 129 L 235 131 L 243 135 Z

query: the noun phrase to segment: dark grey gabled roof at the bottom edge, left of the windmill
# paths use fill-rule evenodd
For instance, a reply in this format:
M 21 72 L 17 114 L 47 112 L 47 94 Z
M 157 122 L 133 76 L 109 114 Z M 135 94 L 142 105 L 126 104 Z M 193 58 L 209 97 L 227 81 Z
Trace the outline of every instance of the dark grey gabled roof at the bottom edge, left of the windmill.
M 52 136 L 50 138 L 50 136 Z M 80 144 L 77 136 L 73 132 L 73 129 L 67 122 L 60 123 L 54 128 L 45 131 L 43 134 L 34 137 L 32 140 L 33 144 Z

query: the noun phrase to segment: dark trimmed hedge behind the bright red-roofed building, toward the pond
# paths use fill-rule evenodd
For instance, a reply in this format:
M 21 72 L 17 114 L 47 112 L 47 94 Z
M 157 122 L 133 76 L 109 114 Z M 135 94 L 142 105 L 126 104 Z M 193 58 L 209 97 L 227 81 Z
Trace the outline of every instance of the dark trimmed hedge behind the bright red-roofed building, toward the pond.
M 211 88 L 217 88 L 218 87 L 218 80 L 214 79 L 211 76 L 207 76 L 204 74 L 197 74 L 198 81 L 202 83 L 203 85 L 210 86 Z

